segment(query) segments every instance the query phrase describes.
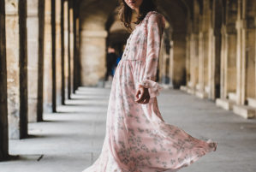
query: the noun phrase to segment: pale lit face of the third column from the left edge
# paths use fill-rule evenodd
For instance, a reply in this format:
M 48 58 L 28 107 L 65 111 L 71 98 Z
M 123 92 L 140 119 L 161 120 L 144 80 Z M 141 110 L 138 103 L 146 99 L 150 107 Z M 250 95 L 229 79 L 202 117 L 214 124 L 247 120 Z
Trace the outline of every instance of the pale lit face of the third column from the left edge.
M 39 74 L 39 0 L 27 0 L 28 122 L 37 122 Z

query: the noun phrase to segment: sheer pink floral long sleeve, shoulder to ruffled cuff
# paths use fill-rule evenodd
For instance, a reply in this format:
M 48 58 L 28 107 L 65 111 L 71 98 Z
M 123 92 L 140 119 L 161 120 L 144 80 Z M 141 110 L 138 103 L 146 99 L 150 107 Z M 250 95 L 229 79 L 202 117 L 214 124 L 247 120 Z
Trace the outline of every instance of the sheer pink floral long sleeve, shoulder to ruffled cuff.
M 146 30 L 146 67 L 143 80 L 139 82 L 139 85 L 148 88 L 150 97 L 154 98 L 158 96 L 161 89 L 161 86 L 156 82 L 156 75 L 161 40 L 164 33 L 164 16 L 156 13 L 150 15 Z

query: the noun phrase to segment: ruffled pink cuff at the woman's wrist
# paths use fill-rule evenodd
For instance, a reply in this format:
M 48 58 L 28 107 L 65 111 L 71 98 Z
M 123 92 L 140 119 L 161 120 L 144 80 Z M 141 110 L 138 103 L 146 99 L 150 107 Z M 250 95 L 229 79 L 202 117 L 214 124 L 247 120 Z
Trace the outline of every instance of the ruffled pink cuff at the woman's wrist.
M 160 86 L 158 82 L 155 82 L 153 80 L 142 80 L 138 82 L 138 86 L 148 88 L 150 98 L 157 97 L 159 95 L 159 91 L 163 89 L 163 87 Z

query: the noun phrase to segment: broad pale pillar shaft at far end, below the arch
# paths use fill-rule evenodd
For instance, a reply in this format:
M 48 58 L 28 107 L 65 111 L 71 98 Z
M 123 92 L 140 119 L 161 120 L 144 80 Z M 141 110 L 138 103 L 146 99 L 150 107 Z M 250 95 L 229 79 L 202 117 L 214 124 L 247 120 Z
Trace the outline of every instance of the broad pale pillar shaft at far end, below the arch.
M 83 86 L 97 86 L 98 80 L 104 80 L 107 32 L 83 30 L 81 37 L 81 82 Z

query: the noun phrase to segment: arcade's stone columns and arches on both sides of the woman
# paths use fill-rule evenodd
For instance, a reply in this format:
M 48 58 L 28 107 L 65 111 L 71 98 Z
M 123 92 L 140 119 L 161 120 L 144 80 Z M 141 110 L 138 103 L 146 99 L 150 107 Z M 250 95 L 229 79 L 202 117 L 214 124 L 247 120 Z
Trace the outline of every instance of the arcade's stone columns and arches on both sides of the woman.
M 166 28 L 158 81 L 245 118 L 256 112 L 256 1 L 158 0 Z M 101 86 L 106 51 L 128 39 L 117 0 L 0 1 L 0 160 L 27 123 Z

